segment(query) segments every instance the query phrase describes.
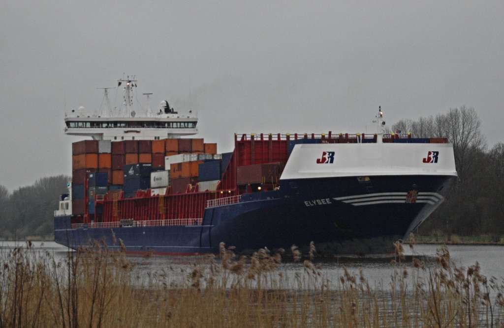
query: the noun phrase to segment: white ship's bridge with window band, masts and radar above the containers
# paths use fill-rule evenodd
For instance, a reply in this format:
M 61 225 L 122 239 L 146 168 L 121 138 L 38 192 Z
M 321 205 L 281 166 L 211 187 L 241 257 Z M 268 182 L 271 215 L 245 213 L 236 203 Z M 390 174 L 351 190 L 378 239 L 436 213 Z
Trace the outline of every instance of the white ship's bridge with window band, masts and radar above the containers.
M 65 114 L 65 134 L 90 136 L 95 140 L 156 140 L 178 138 L 198 133 L 198 118 L 189 111 L 179 114 L 170 108 L 167 101 L 161 102 L 161 109 L 152 113 L 148 107 L 140 114 L 133 109 L 133 90 L 137 80 L 133 78 L 117 80 L 117 87 L 123 87 L 123 102 L 118 109 L 110 108 L 108 89 L 104 89 L 106 108 L 87 113 L 84 107 Z M 145 94 L 149 97 L 150 94 Z

